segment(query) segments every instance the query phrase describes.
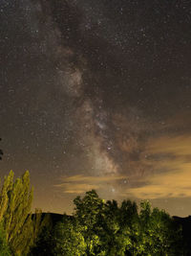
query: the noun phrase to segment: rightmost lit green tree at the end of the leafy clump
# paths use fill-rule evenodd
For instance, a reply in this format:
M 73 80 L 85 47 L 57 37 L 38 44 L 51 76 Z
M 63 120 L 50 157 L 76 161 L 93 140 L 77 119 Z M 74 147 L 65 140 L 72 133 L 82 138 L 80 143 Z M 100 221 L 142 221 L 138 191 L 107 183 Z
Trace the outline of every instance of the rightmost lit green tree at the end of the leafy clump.
M 140 207 L 141 255 L 181 255 L 177 246 L 181 240 L 180 229 L 173 219 L 164 210 L 152 209 L 148 201 L 142 201 Z

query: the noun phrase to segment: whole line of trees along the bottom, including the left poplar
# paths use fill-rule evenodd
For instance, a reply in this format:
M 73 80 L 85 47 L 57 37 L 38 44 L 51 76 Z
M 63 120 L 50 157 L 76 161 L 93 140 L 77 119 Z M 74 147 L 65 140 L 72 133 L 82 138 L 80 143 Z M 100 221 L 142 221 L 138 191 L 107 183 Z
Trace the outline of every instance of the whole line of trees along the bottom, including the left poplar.
M 180 226 L 149 201 L 105 201 L 95 190 L 74 198 L 74 213 L 53 225 L 50 214 L 32 214 L 27 171 L 11 171 L 0 191 L 1 256 L 171 256 L 190 255 Z

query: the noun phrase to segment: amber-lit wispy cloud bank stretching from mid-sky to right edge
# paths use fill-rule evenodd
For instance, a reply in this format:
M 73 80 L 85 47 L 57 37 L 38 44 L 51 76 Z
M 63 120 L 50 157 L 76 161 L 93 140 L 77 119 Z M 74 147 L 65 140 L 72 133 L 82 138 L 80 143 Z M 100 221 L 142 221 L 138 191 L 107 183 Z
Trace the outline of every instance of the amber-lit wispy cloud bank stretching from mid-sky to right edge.
M 112 197 L 120 198 L 191 197 L 191 136 L 153 138 L 148 142 L 145 154 L 148 157 L 141 159 L 141 163 L 150 165 L 153 170 L 146 175 L 62 176 L 54 187 L 62 193 L 76 195 L 92 189 L 104 191 L 106 195 L 114 188 Z

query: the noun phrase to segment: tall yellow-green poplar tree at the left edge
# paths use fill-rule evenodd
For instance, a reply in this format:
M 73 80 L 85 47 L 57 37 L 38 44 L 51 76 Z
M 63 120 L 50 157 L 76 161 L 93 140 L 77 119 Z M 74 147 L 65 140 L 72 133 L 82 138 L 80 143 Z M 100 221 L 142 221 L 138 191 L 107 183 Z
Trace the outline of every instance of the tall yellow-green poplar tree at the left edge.
M 26 172 L 13 181 L 13 172 L 5 176 L 0 194 L 0 221 L 13 255 L 27 255 L 32 244 L 32 189 Z

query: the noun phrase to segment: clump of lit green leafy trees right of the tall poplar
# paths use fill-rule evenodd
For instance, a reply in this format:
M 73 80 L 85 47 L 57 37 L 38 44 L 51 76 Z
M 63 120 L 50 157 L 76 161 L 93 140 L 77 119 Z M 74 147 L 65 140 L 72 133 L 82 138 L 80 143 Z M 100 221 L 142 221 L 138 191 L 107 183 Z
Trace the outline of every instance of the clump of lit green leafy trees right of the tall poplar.
M 105 202 L 96 191 L 74 199 L 74 216 L 64 217 L 54 232 L 53 255 L 182 255 L 180 230 L 163 210 L 148 201 Z M 177 254 L 178 253 L 178 254 Z

